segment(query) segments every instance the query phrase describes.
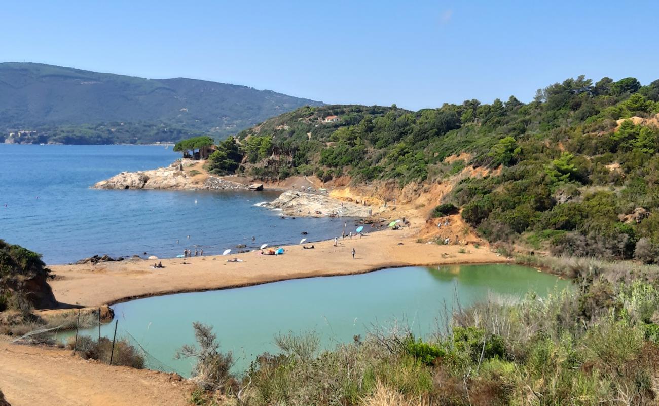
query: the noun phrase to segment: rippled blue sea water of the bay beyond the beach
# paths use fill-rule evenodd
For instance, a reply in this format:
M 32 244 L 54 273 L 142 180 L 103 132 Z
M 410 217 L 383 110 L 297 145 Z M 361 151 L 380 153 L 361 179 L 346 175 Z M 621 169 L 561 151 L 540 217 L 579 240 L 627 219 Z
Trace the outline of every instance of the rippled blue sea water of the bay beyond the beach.
M 303 231 L 309 242 L 341 235 L 341 219 L 283 220 L 254 206 L 277 192 L 89 188 L 179 156 L 162 146 L 0 144 L 0 238 L 46 263 L 68 263 L 94 254 L 173 257 L 185 248 L 221 254 L 238 244 L 297 243 Z

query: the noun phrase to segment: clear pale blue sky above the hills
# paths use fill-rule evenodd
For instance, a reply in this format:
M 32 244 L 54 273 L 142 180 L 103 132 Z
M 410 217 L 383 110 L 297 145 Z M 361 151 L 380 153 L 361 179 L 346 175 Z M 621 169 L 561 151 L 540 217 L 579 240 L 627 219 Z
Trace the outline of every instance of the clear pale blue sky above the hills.
M 191 77 L 327 103 L 492 102 L 659 79 L 657 1 L 9 1 L 2 61 Z

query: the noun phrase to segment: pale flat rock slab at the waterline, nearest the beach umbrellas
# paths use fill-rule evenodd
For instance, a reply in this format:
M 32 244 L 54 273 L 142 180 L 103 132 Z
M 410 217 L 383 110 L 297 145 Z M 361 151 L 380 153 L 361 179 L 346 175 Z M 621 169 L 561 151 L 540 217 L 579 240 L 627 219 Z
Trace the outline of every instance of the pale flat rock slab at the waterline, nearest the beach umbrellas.
M 302 217 L 368 217 L 372 214 L 370 206 L 299 191 L 286 191 L 277 199 L 262 203 L 261 206 L 281 209 L 281 213 L 285 215 Z

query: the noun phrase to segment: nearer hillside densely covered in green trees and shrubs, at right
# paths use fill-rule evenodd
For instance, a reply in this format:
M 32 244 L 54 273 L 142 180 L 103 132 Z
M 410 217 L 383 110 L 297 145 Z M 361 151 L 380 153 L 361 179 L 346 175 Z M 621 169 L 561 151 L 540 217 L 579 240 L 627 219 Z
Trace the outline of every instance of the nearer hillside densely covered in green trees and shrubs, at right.
M 531 245 L 551 241 L 557 254 L 652 262 L 659 259 L 658 113 L 659 81 L 579 77 L 539 90 L 528 104 L 511 96 L 418 112 L 300 108 L 239 133 L 232 148 L 243 159 L 238 170 L 260 176 L 349 175 L 403 186 L 442 182 L 466 166 L 496 168 L 498 176 L 465 179 L 445 198 L 482 236 L 517 242 L 521 234 Z M 275 147 L 293 152 L 291 167 L 265 162 Z M 222 149 L 215 170 L 232 156 Z

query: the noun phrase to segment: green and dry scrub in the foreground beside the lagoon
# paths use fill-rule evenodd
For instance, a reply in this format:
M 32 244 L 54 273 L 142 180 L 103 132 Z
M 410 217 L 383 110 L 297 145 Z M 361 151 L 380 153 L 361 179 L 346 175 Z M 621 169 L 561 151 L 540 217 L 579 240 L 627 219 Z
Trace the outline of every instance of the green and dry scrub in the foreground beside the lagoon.
M 654 404 L 659 269 L 565 258 L 534 265 L 573 277 L 575 288 L 455 306 L 439 323 L 446 328 L 424 339 L 376 328 L 318 353 L 310 333 L 280 335 L 281 353 L 217 374 L 219 393 L 195 391 L 194 404 Z

